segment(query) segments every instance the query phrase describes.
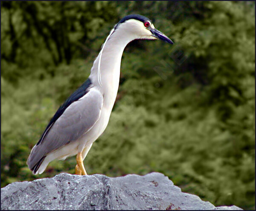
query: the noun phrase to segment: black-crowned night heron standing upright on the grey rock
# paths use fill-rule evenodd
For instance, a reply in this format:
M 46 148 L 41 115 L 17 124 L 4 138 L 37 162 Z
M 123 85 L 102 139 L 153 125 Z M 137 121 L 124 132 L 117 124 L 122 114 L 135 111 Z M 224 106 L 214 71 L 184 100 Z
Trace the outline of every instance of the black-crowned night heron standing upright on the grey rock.
M 87 175 L 83 160 L 93 142 L 108 125 L 119 85 L 125 46 L 135 39 L 160 39 L 173 44 L 142 15 L 122 18 L 111 30 L 90 76 L 57 110 L 32 148 L 27 165 L 34 174 L 43 173 L 49 162 L 76 156 L 76 174 Z

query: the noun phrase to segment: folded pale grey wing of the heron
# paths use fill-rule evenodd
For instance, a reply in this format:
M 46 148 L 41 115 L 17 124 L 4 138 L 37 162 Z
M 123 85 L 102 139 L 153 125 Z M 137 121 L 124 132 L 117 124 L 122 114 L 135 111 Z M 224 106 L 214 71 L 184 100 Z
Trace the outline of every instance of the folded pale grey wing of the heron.
M 103 105 L 103 96 L 96 89 L 73 102 L 52 124 L 43 141 L 33 147 L 29 167 L 33 167 L 43 156 L 79 139 L 99 120 Z

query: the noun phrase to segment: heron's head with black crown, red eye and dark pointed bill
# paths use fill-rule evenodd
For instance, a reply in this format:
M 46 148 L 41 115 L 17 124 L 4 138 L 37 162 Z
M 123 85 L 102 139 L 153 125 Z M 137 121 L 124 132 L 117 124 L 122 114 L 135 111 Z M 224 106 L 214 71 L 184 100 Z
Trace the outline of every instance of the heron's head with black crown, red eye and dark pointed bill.
M 154 27 L 151 20 L 140 14 L 130 14 L 123 17 L 114 29 L 122 29 L 126 35 L 128 33 L 133 39 L 159 39 L 173 44 L 171 39 Z

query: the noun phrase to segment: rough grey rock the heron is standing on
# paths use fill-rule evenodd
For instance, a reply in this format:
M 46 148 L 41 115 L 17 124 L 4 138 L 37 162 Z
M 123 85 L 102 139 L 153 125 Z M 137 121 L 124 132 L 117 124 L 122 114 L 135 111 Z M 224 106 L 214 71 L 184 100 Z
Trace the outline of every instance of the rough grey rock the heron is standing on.
M 14 182 L 1 188 L 1 210 L 241 210 L 215 207 L 181 192 L 161 173 L 145 176 L 78 176 Z

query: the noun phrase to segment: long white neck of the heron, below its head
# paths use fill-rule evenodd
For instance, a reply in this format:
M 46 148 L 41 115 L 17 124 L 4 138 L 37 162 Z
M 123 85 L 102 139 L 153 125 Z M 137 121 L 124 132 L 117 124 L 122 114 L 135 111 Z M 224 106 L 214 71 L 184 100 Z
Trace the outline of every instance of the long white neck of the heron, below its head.
M 102 55 L 100 52 L 95 59 L 89 76 L 110 107 L 113 107 L 119 86 L 122 53 L 125 46 L 136 39 L 135 35 L 125 28 L 118 27 L 106 40 L 105 45 L 103 44 L 103 51 L 101 51 Z M 98 68 L 99 60 L 100 68 Z

